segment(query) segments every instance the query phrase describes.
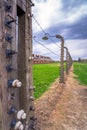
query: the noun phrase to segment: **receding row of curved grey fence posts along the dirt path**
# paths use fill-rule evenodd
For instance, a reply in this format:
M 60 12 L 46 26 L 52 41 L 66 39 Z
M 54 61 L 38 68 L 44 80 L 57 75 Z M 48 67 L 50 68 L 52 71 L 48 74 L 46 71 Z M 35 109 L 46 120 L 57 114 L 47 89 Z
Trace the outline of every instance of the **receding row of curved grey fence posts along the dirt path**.
M 61 55 L 60 55 L 60 83 L 65 83 L 64 73 L 69 74 L 69 70 L 72 66 L 73 60 L 67 47 L 64 46 L 64 38 L 59 35 L 61 39 Z M 64 67 L 64 49 L 66 50 L 66 67 Z M 65 68 L 65 69 L 64 69 Z

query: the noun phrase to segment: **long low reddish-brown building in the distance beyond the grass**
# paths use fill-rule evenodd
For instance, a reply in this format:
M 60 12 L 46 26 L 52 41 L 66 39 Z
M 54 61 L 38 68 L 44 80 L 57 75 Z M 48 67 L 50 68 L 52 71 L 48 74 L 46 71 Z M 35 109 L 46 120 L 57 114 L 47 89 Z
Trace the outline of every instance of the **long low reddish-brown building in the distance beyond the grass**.
M 34 64 L 46 64 L 54 62 L 50 57 L 32 54 Z

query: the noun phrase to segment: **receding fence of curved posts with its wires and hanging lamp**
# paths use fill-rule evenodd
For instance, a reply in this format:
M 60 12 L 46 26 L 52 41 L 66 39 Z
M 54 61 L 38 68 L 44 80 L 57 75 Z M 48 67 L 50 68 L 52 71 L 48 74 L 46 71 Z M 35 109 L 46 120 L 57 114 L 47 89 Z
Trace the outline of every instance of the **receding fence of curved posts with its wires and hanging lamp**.
M 51 34 L 49 34 L 48 32 L 46 32 L 46 31 L 42 28 L 41 24 L 38 22 L 38 20 L 35 18 L 34 15 L 32 15 L 32 18 L 33 18 L 33 20 L 36 22 L 37 26 L 41 29 L 41 31 L 43 32 L 43 34 L 44 34 L 44 37 L 42 37 L 42 39 L 43 39 L 43 40 L 48 40 L 48 39 L 50 39 L 51 42 L 53 42 L 54 45 L 56 45 L 56 47 L 57 47 L 58 50 L 59 50 L 59 48 L 60 48 L 60 53 L 58 53 L 58 54 L 56 53 L 56 54 L 55 54 L 55 52 L 53 52 L 52 50 L 50 50 L 49 48 L 47 48 L 47 47 L 45 46 L 45 44 L 40 43 L 38 40 L 34 39 L 35 42 L 39 43 L 40 45 L 42 45 L 43 47 L 45 47 L 46 49 L 48 49 L 48 51 L 50 51 L 51 53 L 53 53 L 54 55 L 56 55 L 56 56 L 58 56 L 58 57 L 60 58 L 60 81 L 59 81 L 59 82 L 60 82 L 60 83 L 65 83 L 64 73 L 65 73 L 65 72 L 66 72 L 66 74 L 69 73 L 69 70 L 70 70 L 70 68 L 71 68 L 71 66 L 72 66 L 73 60 L 72 60 L 72 57 L 71 57 L 71 55 L 70 55 L 70 53 L 69 53 L 68 48 L 64 46 L 64 38 L 63 38 L 61 35 L 52 36 Z M 57 43 L 52 39 L 53 37 L 59 38 L 59 39 L 61 40 L 61 45 L 57 44 Z M 66 49 L 66 51 L 65 51 L 65 52 L 66 52 L 66 56 L 64 55 L 64 49 Z M 64 58 L 65 58 L 65 61 L 66 61 L 65 67 L 64 67 L 64 62 L 65 62 L 65 61 L 64 61 Z M 64 68 L 65 68 L 65 70 L 64 70 Z M 65 71 L 65 72 L 64 72 L 64 71 Z

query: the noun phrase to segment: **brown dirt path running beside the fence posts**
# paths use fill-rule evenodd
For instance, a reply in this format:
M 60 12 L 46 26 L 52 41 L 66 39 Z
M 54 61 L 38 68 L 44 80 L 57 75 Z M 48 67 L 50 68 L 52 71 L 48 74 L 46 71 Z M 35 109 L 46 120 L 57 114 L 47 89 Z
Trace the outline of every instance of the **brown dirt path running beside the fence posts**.
M 73 76 L 71 71 L 64 87 L 56 81 L 35 101 L 36 130 L 87 130 L 87 87 Z

